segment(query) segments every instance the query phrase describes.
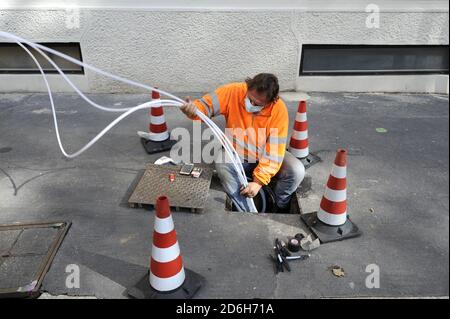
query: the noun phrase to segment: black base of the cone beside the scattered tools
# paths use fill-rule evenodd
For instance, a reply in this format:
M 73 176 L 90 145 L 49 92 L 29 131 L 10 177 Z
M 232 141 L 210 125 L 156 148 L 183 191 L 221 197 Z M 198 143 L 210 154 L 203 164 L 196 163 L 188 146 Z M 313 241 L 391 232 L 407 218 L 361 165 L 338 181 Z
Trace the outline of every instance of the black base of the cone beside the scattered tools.
M 330 226 L 321 222 L 317 218 L 317 212 L 302 214 L 301 218 L 317 238 L 319 238 L 321 243 L 349 239 L 358 237 L 362 234 L 358 226 L 356 226 L 348 216 L 346 222 L 340 226 Z

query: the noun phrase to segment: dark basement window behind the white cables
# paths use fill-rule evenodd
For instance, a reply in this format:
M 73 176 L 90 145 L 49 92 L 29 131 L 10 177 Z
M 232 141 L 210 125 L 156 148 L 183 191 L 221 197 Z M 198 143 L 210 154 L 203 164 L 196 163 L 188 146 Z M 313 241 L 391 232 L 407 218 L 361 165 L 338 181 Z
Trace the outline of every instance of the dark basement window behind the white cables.
M 74 59 L 82 61 L 79 43 L 40 43 L 46 47 L 64 53 Z M 36 57 L 45 73 L 58 73 L 53 66 L 36 50 L 27 46 Z M 59 68 L 67 74 L 84 74 L 83 67 L 43 51 Z M 16 43 L 0 43 L 0 74 L 36 74 L 40 73 L 33 59 Z

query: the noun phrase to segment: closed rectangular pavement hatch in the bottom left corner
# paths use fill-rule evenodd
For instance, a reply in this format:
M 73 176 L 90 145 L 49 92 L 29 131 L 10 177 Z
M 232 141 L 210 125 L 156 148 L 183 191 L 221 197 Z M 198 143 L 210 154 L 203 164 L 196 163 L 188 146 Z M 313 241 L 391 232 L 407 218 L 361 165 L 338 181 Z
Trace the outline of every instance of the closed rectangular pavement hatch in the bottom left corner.
M 0 298 L 34 298 L 70 223 L 0 225 Z

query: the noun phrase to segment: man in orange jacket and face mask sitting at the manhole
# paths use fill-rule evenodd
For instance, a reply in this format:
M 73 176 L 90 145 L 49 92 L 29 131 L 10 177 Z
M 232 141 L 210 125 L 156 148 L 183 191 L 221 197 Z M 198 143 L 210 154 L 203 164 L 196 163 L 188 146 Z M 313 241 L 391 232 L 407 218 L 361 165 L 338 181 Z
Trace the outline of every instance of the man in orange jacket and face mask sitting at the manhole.
M 231 161 L 223 160 L 227 158 L 223 149 L 217 154 L 215 168 L 225 192 L 241 212 L 251 211 L 250 199 L 272 180 L 276 181 L 275 211 L 288 212 L 291 196 L 305 176 L 302 162 L 286 151 L 289 118 L 278 93 L 277 77 L 261 73 L 242 83 L 221 86 L 201 99 L 187 97 L 181 107 L 192 120 L 200 120 L 197 109 L 210 118 L 225 117 L 225 131 L 227 136 L 233 135 L 230 141 L 250 181 L 246 187 L 241 185 Z

